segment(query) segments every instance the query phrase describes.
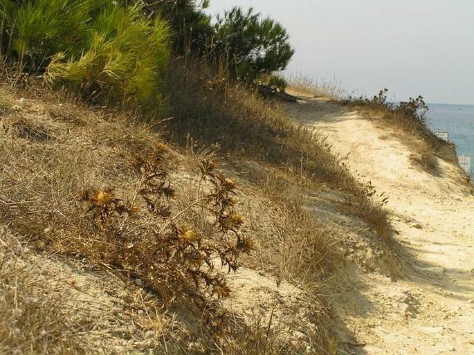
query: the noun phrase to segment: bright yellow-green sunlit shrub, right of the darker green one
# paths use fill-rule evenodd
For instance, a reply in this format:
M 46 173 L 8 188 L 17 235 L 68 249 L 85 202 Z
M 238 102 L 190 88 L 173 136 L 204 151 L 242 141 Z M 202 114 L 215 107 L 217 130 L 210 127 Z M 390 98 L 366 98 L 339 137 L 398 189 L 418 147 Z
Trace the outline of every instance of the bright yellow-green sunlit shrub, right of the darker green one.
M 66 82 L 95 101 L 160 103 L 169 36 L 167 24 L 145 19 L 140 5 L 109 4 L 91 24 L 86 51 L 80 57 L 57 53 L 46 78 Z

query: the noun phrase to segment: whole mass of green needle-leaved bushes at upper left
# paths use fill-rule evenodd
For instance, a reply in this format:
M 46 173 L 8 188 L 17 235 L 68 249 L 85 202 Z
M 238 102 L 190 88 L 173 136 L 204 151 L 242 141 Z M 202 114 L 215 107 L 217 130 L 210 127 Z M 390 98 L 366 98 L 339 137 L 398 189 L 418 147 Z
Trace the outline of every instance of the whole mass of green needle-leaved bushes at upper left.
M 3 54 L 94 102 L 161 104 L 170 30 L 129 2 L 0 0 Z

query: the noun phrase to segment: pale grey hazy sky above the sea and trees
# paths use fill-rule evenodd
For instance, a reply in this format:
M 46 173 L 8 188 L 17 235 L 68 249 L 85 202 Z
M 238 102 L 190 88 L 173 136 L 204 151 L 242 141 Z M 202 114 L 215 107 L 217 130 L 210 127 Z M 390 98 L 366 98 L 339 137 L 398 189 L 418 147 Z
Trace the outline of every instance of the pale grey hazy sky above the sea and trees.
M 295 55 L 286 72 L 355 95 L 474 104 L 474 0 L 210 0 L 280 21 Z

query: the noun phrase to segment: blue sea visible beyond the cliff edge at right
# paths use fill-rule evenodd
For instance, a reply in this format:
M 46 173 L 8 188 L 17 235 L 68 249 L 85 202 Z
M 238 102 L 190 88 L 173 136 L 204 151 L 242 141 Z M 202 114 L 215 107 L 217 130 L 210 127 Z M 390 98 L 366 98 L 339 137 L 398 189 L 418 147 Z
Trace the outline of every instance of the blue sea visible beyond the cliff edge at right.
M 474 105 L 428 104 L 426 124 L 434 132 L 448 132 L 455 143 L 457 156 L 471 156 L 471 176 L 474 177 Z

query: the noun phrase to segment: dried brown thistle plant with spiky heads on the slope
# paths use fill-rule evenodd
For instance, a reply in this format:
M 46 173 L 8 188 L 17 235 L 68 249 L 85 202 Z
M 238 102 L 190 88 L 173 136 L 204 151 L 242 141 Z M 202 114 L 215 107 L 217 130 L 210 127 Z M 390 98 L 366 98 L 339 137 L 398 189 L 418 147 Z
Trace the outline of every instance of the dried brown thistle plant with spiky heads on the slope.
M 237 271 L 241 253 L 250 253 L 253 248 L 250 238 L 239 233 L 242 219 L 234 207 L 236 185 L 216 170 L 214 162 L 205 159 L 200 164 L 197 199 L 172 213 L 169 200 L 176 191 L 167 179 L 166 161 L 165 146 L 158 144 L 133 162 L 139 177 L 137 194 L 145 208 L 140 208 L 138 201 L 134 204 L 119 199 L 111 188 L 80 192 L 80 201 L 87 206 L 84 232 L 100 241 L 91 248 L 94 252 L 88 252 L 100 262 L 140 277 L 165 302 L 195 291 L 225 297 L 230 290 L 214 258 L 219 258 L 228 271 Z M 199 210 L 202 219 L 212 220 L 210 235 L 180 222 L 192 210 Z M 137 233 L 130 217 L 151 218 L 154 226 L 161 228 L 141 226 Z

